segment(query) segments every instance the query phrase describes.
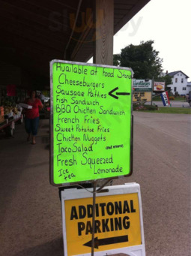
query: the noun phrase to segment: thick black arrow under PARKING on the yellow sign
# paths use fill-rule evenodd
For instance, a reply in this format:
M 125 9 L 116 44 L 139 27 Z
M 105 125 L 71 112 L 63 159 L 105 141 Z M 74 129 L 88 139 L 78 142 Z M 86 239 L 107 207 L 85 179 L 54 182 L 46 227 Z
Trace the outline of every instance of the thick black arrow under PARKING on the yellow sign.
M 97 237 L 94 239 L 94 248 L 99 248 L 101 245 L 111 245 L 119 242 L 128 242 L 128 236 L 115 236 L 109 238 L 98 239 Z M 85 246 L 91 247 L 91 240 L 84 244 Z

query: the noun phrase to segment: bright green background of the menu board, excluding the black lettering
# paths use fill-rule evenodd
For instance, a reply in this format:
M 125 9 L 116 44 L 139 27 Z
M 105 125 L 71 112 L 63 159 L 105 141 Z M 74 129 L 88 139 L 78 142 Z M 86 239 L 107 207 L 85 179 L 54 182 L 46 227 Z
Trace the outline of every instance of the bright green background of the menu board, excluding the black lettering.
M 67 63 L 60 63 L 59 65 L 61 66 L 72 66 L 71 64 Z M 73 64 L 73 67 L 77 67 L 78 65 Z M 82 67 L 82 65 L 80 65 Z M 95 180 L 95 179 L 104 179 L 104 178 L 109 178 L 109 177 L 115 177 L 115 176 L 124 176 L 130 174 L 130 134 L 131 134 L 131 91 L 132 91 L 132 86 L 131 82 L 132 80 L 129 78 L 118 78 L 118 75 L 121 75 L 119 73 L 120 68 L 104 68 L 104 71 L 107 72 L 114 72 L 114 77 L 103 77 L 103 67 L 97 67 L 97 75 L 91 75 L 90 71 L 95 70 L 95 65 L 85 65 L 84 68 L 88 69 L 88 75 L 84 74 L 74 74 L 74 73 L 69 73 L 69 72 L 62 72 L 62 71 L 56 71 L 56 62 L 53 63 L 52 65 L 52 97 L 53 97 L 53 102 L 52 102 L 52 121 L 53 121 L 53 131 L 52 131 L 52 136 L 53 136 L 53 182 L 55 184 L 64 184 L 64 183 L 71 183 L 71 182 L 85 182 L 89 180 Z M 128 74 L 131 76 L 131 71 L 128 70 L 122 70 L 122 73 Z M 94 168 L 90 168 L 88 164 L 82 165 L 80 164 L 80 161 L 82 161 L 82 153 L 83 152 L 63 152 L 61 154 L 62 159 L 70 159 L 75 157 L 78 165 L 74 166 L 62 166 L 61 165 L 58 167 L 57 166 L 57 155 L 58 155 L 58 146 L 57 143 L 58 141 L 56 140 L 56 136 L 58 132 L 55 131 L 55 125 L 57 124 L 58 120 L 58 113 L 55 111 L 55 106 L 58 104 L 56 102 L 56 95 L 58 93 L 56 92 L 57 86 L 59 85 L 58 82 L 58 77 L 60 76 L 61 73 L 64 73 L 67 76 L 67 80 L 83 80 L 83 77 L 85 76 L 85 81 L 89 83 L 104 83 L 104 89 L 103 88 L 96 88 L 97 91 L 99 91 L 102 94 L 106 93 L 106 98 L 90 98 L 87 96 L 88 89 L 91 88 L 92 90 L 93 87 L 87 87 L 87 86 L 70 86 L 70 85 L 61 85 L 61 88 L 64 90 L 76 90 L 80 92 L 85 92 L 85 98 L 87 101 L 89 100 L 96 100 L 99 101 L 100 105 L 99 106 L 87 106 L 92 109 L 96 110 L 96 114 L 88 114 L 88 116 L 93 116 L 95 119 L 100 119 L 100 124 L 104 128 L 109 128 L 110 132 L 105 132 L 105 133 L 100 133 L 97 132 L 97 126 L 94 124 L 89 124 L 90 128 L 94 128 L 94 133 L 85 133 L 88 134 L 89 136 L 100 136 L 103 134 L 103 137 L 106 136 L 106 141 L 102 142 L 97 142 L 97 144 L 93 145 L 93 152 L 88 152 L 88 158 L 110 158 L 111 155 L 113 155 L 113 164 L 96 164 L 96 170 L 98 168 L 100 169 L 106 169 L 106 168 L 113 168 L 117 167 L 119 164 L 119 167 L 123 167 L 123 172 L 122 173 L 100 173 L 100 174 L 94 174 Z M 64 76 L 62 76 L 64 77 Z M 62 79 L 63 80 L 63 79 Z M 115 87 L 118 87 L 117 92 L 130 92 L 130 95 L 118 95 L 118 100 L 115 98 L 112 98 L 108 93 L 112 90 L 115 89 Z M 115 94 L 115 92 L 114 92 Z M 73 105 L 70 104 L 71 98 L 73 96 L 67 96 L 67 95 L 61 95 L 59 94 L 59 98 L 65 98 L 67 99 L 67 104 L 69 104 L 72 109 Z M 77 100 L 83 100 L 83 97 L 78 97 L 76 96 Z M 103 106 L 105 110 L 113 110 L 118 111 L 118 110 L 124 110 L 125 115 L 121 116 L 113 116 L 113 115 L 101 115 L 98 113 L 100 110 L 100 106 Z M 79 104 L 80 108 L 85 108 L 86 105 L 81 105 Z M 76 117 L 80 119 L 80 124 L 83 125 L 84 127 L 87 127 L 87 125 L 84 123 L 84 113 L 62 113 L 61 117 Z M 67 127 L 71 128 L 72 124 L 62 124 L 62 127 Z M 84 133 L 79 133 L 76 132 L 76 125 L 73 124 L 74 132 L 73 135 L 75 137 L 81 137 L 83 136 Z M 60 131 L 59 131 L 60 132 Z M 70 136 L 69 132 L 64 132 L 64 137 Z M 78 142 L 79 146 L 81 144 L 84 144 L 85 146 L 91 146 L 91 142 L 85 142 L 81 140 Z M 114 145 L 121 145 L 123 144 L 123 148 L 115 148 L 115 149 L 106 149 L 106 146 L 114 146 Z M 73 147 L 73 142 L 62 142 L 62 146 L 67 146 L 67 147 Z M 64 175 L 59 176 L 60 172 L 58 170 L 60 169 L 67 169 L 68 174 L 70 174 L 70 179 L 64 179 Z M 71 173 L 75 175 L 75 177 L 71 178 Z

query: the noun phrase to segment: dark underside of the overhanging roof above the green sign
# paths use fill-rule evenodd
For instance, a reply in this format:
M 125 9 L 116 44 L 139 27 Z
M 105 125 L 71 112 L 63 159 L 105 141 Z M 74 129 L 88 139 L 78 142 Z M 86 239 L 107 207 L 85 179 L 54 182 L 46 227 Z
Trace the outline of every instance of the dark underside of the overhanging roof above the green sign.
M 114 35 L 149 1 L 114 0 Z M 95 1 L 0 2 L 1 61 L 48 77 L 52 59 L 87 62 L 93 56 Z

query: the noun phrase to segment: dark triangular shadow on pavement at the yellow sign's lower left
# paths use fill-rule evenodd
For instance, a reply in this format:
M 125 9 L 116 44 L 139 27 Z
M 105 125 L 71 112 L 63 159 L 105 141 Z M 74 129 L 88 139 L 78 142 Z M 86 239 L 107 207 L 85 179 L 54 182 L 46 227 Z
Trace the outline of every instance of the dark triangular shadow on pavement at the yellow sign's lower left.
M 14 256 L 63 256 L 63 239 L 54 239 L 50 242 L 43 243 L 35 247 L 27 248 L 23 251 L 19 251 Z

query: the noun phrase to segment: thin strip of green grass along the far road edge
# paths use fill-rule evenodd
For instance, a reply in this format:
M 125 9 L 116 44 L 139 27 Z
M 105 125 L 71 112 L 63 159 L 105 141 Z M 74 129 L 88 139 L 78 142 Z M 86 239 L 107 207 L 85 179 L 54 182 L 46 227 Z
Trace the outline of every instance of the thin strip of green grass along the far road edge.
M 169 114 L 191 114 L 190 108 L 185 107 L 160 107 L 159 110 L 139 110 L 150 113 L 169 113 Z

